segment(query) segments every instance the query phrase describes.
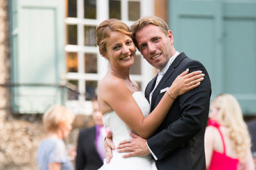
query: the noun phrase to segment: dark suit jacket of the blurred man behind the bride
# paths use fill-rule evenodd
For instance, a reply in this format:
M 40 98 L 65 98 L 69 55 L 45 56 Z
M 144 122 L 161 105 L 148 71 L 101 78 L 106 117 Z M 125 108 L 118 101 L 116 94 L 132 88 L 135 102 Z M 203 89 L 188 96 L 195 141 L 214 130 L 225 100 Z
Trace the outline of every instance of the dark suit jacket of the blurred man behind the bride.
M 77 141 L 76 169 L 99 169 L 103 162 L 95 146 L 96 127 L 83 129 Z

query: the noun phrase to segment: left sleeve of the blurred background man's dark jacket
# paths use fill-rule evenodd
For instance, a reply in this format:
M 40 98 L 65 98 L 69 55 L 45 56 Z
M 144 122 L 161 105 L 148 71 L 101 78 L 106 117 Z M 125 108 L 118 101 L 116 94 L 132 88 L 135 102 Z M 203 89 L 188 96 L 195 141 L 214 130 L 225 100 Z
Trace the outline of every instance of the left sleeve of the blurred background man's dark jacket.
M 86 158 L 83 153 L 83 133 L 83 131 L 79 132 L 77 140 L 76 170 L 84 170 L 84 166 L 86 165 Z

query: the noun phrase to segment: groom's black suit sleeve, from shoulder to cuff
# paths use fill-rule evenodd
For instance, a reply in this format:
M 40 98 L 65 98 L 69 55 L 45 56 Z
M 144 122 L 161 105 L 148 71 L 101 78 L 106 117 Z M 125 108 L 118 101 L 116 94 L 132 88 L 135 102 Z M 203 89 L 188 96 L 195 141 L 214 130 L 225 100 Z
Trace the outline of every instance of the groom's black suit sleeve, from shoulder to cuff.
M 200 132 L 204 136 L 207 117 L 209 114 L 209 102 L 211 97 L 211 82 L 205 67 L 198 61 L 191 61 L 180 66 L 175 75 L 189 68 L 189 72 L 202 70 L 204 80 L 195 89 L 179 96 L 173 103 L 169 114 L 179 115 L 179 118 L 166 126 L 147 140 L 148 146 L 154 152 L 157 159 L 163 159 L 166 155 L 174 152 L 180 146 L 185 145 L 190 139 Z M 171 123 L 172 122 L 172 123 Z M 164 122 L 166 124 L 166 122 Z M 203 139 L 204 138 L 200 138 Z

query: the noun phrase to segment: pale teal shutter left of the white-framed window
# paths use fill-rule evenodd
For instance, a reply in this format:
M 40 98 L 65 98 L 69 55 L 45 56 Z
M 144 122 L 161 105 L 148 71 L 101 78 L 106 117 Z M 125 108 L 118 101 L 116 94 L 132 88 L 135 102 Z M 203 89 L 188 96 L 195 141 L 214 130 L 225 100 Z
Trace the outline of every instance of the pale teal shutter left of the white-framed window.
M 65 73 L 65 1 L 12 1 L 13 112 L 44 113 L 62 104 Z

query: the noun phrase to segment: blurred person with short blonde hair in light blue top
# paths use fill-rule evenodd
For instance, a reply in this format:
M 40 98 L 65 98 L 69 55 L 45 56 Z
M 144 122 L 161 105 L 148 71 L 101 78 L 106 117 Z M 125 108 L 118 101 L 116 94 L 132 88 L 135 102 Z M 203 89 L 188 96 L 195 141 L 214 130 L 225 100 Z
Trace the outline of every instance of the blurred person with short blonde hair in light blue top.
M 70 170 L 71 160 L 63 141 L 72 129 L 75 115 L 64 106 L 52 106 L 43 117 L 47 136 L 36 151 L 36 162 L 39 170 Z

